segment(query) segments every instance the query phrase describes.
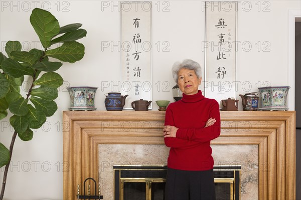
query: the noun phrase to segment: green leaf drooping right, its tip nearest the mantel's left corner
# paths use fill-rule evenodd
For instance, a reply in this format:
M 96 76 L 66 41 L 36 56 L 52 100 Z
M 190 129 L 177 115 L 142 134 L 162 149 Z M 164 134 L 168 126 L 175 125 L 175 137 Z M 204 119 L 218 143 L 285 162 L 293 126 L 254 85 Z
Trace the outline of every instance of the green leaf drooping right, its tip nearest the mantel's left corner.
M 58 106 L 54 101 L 47 101 L 33 96 L 30 98 L 30 100 L 37 109 L 43 110 L 47 117 L 52 116 L 58 109 Z

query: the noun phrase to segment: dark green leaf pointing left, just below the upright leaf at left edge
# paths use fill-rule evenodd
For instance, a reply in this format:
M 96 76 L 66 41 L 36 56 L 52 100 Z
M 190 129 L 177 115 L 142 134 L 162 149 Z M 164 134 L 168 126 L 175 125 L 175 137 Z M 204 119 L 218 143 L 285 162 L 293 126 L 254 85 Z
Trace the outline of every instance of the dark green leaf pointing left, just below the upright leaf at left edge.
M 19 62 L 14 61 L 10 58 L 5 59 L 2 62 L 2 69 L 5 73 L 15 78 L 19 78 L 24 75 L 33 76 L 35 74 L 35 70 L 29 67 L 24 67 Z

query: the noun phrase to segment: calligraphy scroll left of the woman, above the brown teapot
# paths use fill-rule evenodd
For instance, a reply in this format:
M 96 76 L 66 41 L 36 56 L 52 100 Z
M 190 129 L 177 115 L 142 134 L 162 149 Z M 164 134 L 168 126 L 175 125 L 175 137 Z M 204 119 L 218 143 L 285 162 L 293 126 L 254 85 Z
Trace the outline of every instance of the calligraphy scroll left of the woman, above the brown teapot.
M 152 3 L 123 2 L 120 7 L 120 92 L 129 95 L 123 108 L 132 109 L 132 101 L 152 100 Z

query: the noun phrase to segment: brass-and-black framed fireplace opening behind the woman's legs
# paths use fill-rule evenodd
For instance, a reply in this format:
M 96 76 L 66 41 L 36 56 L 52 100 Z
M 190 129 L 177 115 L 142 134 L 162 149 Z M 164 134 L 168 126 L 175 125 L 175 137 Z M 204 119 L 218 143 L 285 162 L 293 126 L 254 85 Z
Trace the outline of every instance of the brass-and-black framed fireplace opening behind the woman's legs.
M 114 199 L 164 200 L 167 166 L 114 165 Z M 214 166 L 217 200 L 240 199 L 240 165 Z

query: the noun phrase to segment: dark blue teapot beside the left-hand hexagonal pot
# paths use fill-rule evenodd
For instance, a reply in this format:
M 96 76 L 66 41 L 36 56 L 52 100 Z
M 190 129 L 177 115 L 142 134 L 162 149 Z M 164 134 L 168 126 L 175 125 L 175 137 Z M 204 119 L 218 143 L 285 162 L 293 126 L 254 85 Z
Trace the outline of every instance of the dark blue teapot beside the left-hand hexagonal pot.
M 125 98 L 128 95 L 122 96 L 119 92 L 109 92 L 108 95 L 105 95 L 104 100 L 105 108 L 108 111 L 121 111 L 125 104 Z

